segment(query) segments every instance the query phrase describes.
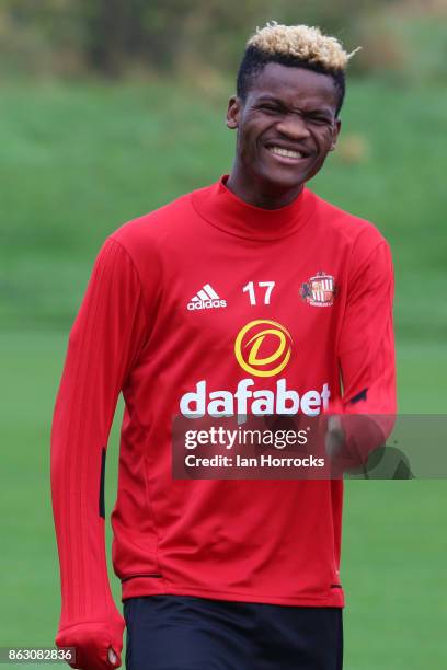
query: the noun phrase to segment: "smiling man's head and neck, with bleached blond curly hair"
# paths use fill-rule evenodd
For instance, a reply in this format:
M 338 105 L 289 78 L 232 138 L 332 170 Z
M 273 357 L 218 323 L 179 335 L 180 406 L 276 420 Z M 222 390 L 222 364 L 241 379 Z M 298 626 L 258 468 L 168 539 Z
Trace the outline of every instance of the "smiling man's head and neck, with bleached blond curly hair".
M 307 26 L 267 25 L 249 41 L 227 116 L 239 130 L 231 190 L 268 209 L 297 198 L 335 148 L 348 58 Z

